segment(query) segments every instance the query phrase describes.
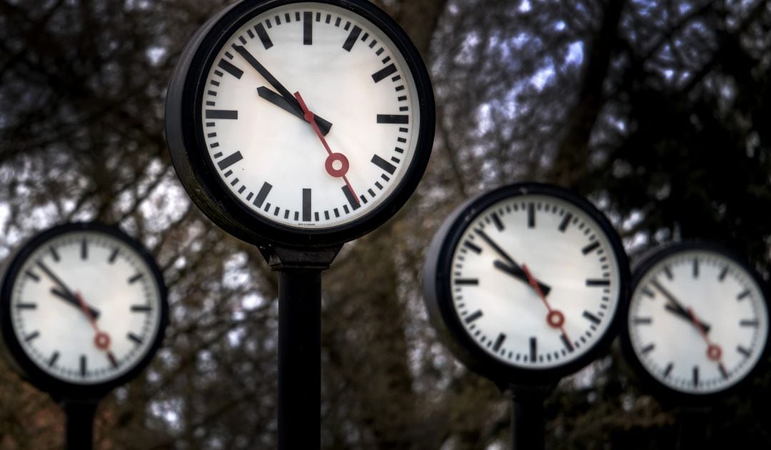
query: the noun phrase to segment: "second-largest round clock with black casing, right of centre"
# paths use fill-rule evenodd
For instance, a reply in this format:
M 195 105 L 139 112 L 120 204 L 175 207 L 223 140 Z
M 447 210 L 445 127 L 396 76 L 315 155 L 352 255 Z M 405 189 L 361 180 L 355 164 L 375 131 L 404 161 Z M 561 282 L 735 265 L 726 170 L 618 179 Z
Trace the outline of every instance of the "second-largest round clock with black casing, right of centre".
M 589 201 L 512 184 L 467 201 L 439 228 L 424 299 L 467 366 L 498 383 L 548 383 L 608 346 L 628 272 L 618 235 Z

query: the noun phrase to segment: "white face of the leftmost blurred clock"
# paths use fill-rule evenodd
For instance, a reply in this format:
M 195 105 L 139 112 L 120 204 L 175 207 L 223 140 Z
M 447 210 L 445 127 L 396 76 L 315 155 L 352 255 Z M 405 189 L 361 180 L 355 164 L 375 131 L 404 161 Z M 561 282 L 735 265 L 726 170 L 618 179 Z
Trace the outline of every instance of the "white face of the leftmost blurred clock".
M 125 374 L 160 328 L 160 288 L 145 260 L 101 232 L 66 232 L 39 245 L 12 282 L 10 317 L 23 352 L 73 384 Z

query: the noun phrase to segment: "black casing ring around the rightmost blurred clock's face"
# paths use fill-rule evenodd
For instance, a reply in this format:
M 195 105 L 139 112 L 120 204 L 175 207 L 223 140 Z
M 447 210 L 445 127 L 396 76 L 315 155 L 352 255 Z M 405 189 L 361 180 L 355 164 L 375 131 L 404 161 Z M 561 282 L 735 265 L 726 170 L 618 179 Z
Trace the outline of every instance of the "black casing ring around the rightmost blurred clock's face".
M 712 393 L 698 394 L 694 392 L 679 391 L 674 387 L 670 387 L 659 381 L 653 374 L 651 374 L 645 365 L 639 360 L 634 347 L 631 344 L 630 327 L 628 315 L 631 310 L 631 302 L 635 296 L 641 280 L 648 275 L 648 272 L 654 268 L 659 262 L 668 259 L 678 253 L 682 252 L 707 252 L 721 256 L 722 258 L 730 259 L 737 266 L 742 268 L 758 286 L 762 301 L 766 303 L 766 320 L 769 323 L 769 333 L 766 333 L 766 342 L 760 357 L 755 367 L 752 367 L 742 379 L 726 387 L 720 391 Z M 771 307 L 769 307 L 769 290 L 766 283 L 759 276 L 755 269 L 744 259 L 742 259 L 736 252 L 732 252 L 723 245 L 716 244 L 714 242 L 705 242 L 700 240 L 689 240 L 682 242 L 672 242 L 668 245 L 664 245 L 657 249 L 653 249 L 651 252 L 643 255 L 637 264 L 632 274 L 631 291 L 629 301 L 625 304 L 624 320 L 622 320 L 621 328 L 621 357 L 623 357 L 625 364 L 628 366 L 628 370 L 631 370 L 635 379 L 641 385 L 644 391 L 655 395 L 662 403 L 672 404 L 675 406 L 703 406 L 708 404 L 715 404 L 722 401 L 729 395 L 736 394 L 744 390 L 752 381 L 752 378 L 758 374 L 758 371 L 767 364 L 769 358 L 769 334 L 771 334 Z

